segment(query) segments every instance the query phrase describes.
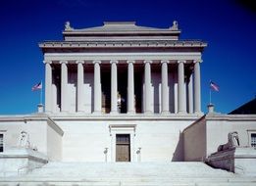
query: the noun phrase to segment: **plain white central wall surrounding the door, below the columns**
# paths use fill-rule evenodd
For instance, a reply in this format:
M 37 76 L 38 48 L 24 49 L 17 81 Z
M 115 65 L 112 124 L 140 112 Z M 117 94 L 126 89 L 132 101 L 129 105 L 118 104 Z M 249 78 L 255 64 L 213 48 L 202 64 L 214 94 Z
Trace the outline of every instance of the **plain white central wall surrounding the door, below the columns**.
M 116 162 L 115 135 L 119 132 L 130 134 L 131 162 L 174 162 L 183 161 L 181 132 L 197 117 L 124 115 L 52 118 L 64 130 L 64 162 Z M 107 155 L 104 154 L 106 148 Z

